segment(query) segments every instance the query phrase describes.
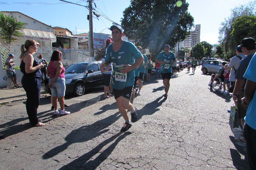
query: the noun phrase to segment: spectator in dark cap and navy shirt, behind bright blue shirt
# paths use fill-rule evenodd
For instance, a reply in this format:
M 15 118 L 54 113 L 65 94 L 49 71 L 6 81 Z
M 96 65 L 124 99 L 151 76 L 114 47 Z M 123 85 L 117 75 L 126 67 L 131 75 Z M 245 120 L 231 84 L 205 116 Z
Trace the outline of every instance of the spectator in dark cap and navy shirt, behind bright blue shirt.
M 236 103 L 236 107 L 238 108 L 238 118 L 241 119 L 242 127 L 244 128 L 244 117 L 246 115 L 246 110 L 242 106 L 241 99 L 244 97 L 244 87 L 246 83 L 246 78 L 244 78 L 244 74 L 246 72 L 247 67 L 252 59 L 252 56 L 256 52 L 255 40 L 253 38 L 244 38 L 240 44 L 243 54 L 246 57 L 241 60 L 238 70 L 236 72 L 235 78 L 237 79 L 235 82 L 235 87 L 233 91 L 233 100 Z M 245 142 L 244 137 L 235 138 L 238 141 Z

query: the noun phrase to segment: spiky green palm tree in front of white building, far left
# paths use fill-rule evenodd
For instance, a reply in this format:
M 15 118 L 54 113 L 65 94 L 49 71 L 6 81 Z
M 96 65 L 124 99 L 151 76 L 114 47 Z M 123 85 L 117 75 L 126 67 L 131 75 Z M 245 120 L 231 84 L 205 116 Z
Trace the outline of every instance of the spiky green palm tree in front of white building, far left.
M 25 28 L 27 23 L 17 21 L 13 16 L 0 13 L 0 38 L 6 41 L 6 44 L 11 44 L 12 41 L 17 41 L 23 33 L 20 30 Z

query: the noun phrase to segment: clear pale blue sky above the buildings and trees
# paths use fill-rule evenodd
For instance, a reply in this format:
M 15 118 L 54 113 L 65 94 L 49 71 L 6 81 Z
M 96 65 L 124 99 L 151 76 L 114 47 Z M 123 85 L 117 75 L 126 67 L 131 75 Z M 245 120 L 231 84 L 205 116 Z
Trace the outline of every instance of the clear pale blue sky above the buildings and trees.
M 87 0 L 68 0 L 87 5 Z M 252 0 L 249 0 L 252 1 Z M 201 41 L 215 44 L 218 41 L 218 29 L 224 18 L 230 16 L 230 9 L 244 5 L 246 0 L 187 0 L 189 12 L 195 24 L 201 24 Z M 7 2 L 7 4 L 4 4 Z M 28 4 L 26 4 L 26 2 Z M 96 10 L 104 13 L 120 24 L 122 12 L 130 5 L 130 0 L 94 0 Z M 23 4 L 19 4 L 23 3 Z M 45 3 L 45 4 L 42 4 Z M 72 32 L 84 33 L 89 30 L 88 10 L 85 7 L 66 4 L 59 0 L 0 0 L 0 11 L 19 11 L 45 24 L 68 28 Z M 110 34 L 106 29 L 111 22 L 103 17 L 93 18 L 94 32 Z

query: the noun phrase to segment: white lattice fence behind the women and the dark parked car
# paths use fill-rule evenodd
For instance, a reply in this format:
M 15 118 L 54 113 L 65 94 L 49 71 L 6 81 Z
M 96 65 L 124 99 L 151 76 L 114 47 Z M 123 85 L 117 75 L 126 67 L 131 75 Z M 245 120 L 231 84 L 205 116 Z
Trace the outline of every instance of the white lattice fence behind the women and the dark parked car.
M 52 48 L 52 47 L 38 47 L 37 52 L 33 54 L 35 60 L 38 61 L 37 56 L 42 54 L 46 61 L 50 61 L 51 54 L 54 50 L 60 50 L 62 52 L 62 63 L 65 66 L 69 66 L 74 63 L 88 62 L 90 61 L 90 52 L 88 50 L 77 50 L 77 49 L 62 49 L 62 48 Z M 8 55 L 12 53 L 15 55 L 13 60 L 15 61 L 15 66 L 20 66 L 20 55 L 21 55 L 21 45 L 6 45 L 0 44 L 0 51 L 3 63 Z

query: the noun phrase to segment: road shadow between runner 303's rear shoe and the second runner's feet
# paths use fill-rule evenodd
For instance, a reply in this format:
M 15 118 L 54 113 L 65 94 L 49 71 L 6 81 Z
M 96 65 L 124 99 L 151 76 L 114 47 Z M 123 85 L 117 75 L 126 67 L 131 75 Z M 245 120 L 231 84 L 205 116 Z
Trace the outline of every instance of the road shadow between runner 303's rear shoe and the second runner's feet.
M 156 113 L 157 111 L 159 111 L 160 109 L 158 107 L 160 107 L 163 104 L 163 102 L 166 101 L 166 98 L 163 98 L 163 97 L 164 97 L 164 95 L 158 97 L 153 102 L 150 102 L 150 103 L 146 104 L 143 108 L 141 108 L 137 112 L 138 120 L 141 119 L 143 115 L 152 115 L 152 114 Z M 163 99 L 161 100 L 161 98 L 163 98 Z

